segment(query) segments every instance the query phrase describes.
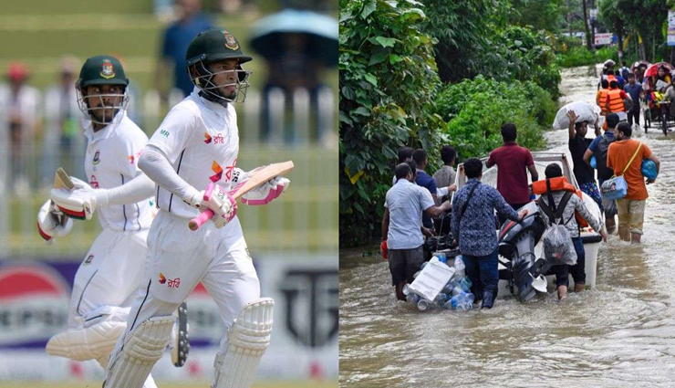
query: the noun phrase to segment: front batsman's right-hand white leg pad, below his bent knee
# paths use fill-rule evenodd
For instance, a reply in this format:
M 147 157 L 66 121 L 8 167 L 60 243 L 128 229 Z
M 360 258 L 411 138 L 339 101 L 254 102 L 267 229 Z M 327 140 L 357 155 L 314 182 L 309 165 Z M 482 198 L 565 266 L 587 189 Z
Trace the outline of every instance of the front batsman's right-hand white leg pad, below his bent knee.
M 227 349 L 215 357 L 213 388 L 249 388 L 260 359 L 269 346 L 275 301 L 256 299 L 248 303 L 227 333 Z

